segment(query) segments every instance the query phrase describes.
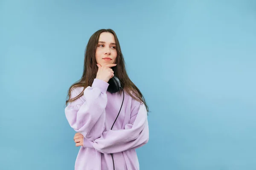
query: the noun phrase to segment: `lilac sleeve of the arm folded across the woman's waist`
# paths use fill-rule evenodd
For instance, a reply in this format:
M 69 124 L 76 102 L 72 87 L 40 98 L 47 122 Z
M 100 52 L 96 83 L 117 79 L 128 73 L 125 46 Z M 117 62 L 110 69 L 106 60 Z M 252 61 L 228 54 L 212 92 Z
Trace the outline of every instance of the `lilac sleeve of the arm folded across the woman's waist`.
M 138 102 L 139 103 L 139 102 Z M 131 122 L 122 130 L 108 130 L 93 141 L 93 147 L 101 153 L 118 153 L 142 147 L 148 142 L 147 110 L 137 104 L 131 112 Z

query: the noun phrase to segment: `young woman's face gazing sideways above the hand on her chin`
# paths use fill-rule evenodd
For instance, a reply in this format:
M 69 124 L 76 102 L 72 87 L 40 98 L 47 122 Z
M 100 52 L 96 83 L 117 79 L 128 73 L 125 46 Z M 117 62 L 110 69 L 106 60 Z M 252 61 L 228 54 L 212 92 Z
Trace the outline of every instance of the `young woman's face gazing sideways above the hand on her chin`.
M 102 32 L 96 48 L 96 61 L 101 66 L 113 64 L 116 61 L 116 41 L 110 32 Z

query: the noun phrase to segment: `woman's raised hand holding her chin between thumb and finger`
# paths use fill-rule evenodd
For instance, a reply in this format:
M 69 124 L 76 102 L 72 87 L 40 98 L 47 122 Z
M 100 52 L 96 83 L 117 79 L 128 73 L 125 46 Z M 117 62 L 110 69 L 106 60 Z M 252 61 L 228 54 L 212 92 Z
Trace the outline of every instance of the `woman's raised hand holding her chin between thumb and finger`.
M 111 79 L 114 76 L 114 72 L 111 69 L 111 67 L 116 66 L 116 64 L 107 64 L 105 66 L 101 66 L 100 64 L 97 64 L 97 66 L 99 69 L 98 69 L 96 78 L 108 83 L 109 79 Z

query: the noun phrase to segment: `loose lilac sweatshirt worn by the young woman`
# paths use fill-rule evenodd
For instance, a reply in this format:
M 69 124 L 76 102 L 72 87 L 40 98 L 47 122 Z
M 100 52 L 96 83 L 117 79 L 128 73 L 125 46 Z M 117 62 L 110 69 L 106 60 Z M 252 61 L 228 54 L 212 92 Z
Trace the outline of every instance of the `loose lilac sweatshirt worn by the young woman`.
M 70 126 L 84 135 L 75 170 L 139 170 L 136 148 L 148 142 L 148 119 L 145 105 L 125 93 L 120 114 L 111 130 L 122 104 L 123 95 L 107 91 L 108 83 L 94 79 L 76 101 L 68 104 L 65 114 Z M 79 95 L 83 87 L 72 90 Z M 123 94 L 123 93 L 122 93 Z

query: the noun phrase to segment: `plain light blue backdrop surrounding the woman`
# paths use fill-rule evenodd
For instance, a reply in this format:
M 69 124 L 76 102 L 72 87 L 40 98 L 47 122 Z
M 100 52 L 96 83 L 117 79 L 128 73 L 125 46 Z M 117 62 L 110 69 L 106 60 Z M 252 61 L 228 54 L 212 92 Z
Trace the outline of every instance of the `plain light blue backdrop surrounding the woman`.
M 113 29 L 151 112 L 142 170 L 256 168 L 256 1 L 0 1 L 0 170 L 72 170 L 64 115 L 84 49 Z

